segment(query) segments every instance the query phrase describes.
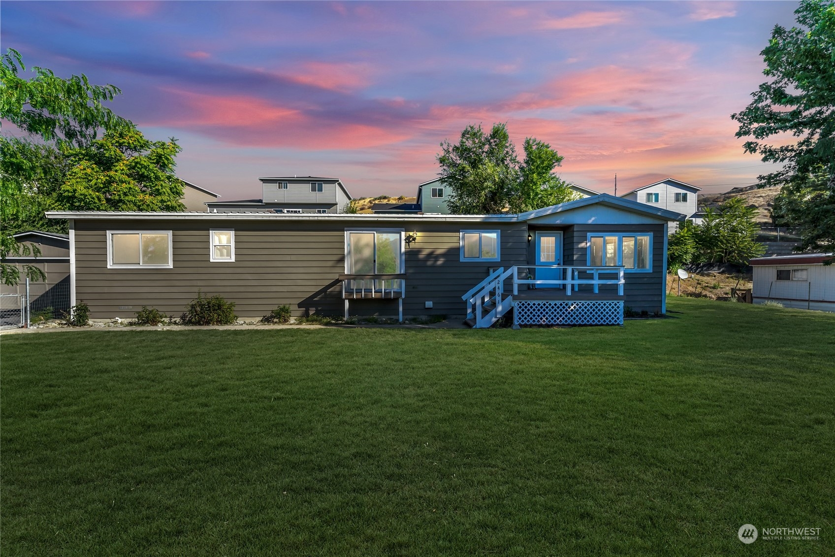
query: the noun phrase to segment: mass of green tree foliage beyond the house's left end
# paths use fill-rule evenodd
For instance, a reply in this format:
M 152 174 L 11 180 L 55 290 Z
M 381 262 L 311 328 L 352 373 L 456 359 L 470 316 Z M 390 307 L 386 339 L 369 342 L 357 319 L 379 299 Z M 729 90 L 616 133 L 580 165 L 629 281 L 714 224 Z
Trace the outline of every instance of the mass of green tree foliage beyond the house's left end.
M 38 67 L 27 79 L 25 70 L 17 51 L 0 57 L 0 116 L 14 126 L 13 133 L 0 134 L 0 280 L 11 285 L 20 273 L 6 259 L 40 255 L 37 247 L 18 244 L 14 233 L 66 231 L 66 223 L 47 220 L 45 210 L 182 206 L 171 200 L 182 195 L 173 176 L 180 147 L 174 139 L 149 142 L 104 106 L 121 93 L 118 88 L 90 84 L 83 74 L 59 78 Z M 84 177 L 94 183 L 83 185 Z M 23 266 L 23 273 L 44 278 L 34 265 Z

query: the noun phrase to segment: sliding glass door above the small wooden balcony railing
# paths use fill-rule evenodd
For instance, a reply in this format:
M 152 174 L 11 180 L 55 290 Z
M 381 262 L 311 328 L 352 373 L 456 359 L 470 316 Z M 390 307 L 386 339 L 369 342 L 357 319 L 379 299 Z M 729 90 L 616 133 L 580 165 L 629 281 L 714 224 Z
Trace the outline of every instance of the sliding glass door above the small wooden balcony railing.
M 397 275 L 402 273 L 402 232 L 362 230 L 347 232 L 347 273 L 350 275 Z M 356 279 L 348 288 L 363 291 L 401 290 L 398 279 Z

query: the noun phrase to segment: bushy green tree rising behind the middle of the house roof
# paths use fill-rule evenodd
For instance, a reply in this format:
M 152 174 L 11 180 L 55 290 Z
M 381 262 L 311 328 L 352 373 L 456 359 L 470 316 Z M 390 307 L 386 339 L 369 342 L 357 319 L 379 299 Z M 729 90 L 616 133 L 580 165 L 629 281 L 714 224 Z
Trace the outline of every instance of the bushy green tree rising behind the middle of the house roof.
M 439 174 L 452 190 L 447 205 L 453 214 L 521 212 L 576 198 L 554 175 L 563 157 L 549 144 L 528 138 L 520 164 L 505 124 L 493 124 L 489 133 L 481 124 L 470 124 L 457 144 L 444 140 L 441 149 Z

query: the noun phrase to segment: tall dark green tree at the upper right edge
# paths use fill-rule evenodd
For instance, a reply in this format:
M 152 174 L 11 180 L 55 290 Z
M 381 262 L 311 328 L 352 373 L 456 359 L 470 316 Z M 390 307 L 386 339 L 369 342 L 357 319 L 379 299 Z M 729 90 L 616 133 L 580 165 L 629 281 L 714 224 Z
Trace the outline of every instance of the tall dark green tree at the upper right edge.
M 752 94 L 736 137 L 781 170 L 759 176 L 780 185 L 775 215 L 802 229 L 802 249 L 835 246 L 835 0 L 802 0 L 797 27 L 775 26 L 762 50 L 771 81 Z M 797 140 L 787 143 L 793 136 Z M 772 139 L 772 141 L 767 141 Z

